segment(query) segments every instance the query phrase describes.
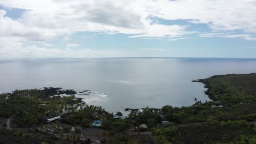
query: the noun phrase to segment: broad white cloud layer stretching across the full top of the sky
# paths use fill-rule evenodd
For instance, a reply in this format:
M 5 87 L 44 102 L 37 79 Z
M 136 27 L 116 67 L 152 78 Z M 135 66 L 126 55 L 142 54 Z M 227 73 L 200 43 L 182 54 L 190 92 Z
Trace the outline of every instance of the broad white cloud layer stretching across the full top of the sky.
M 171 41 L 196 33 L 188 30 L 189 25 L 166 25 L 158 19 L 186 20 L 191 25 L 203 23 L 210 32 L 200 37 L 256 40 L 255 0 L 0 0 L 0 5 L 23 9 L 16 20 L 6 16 L 5 10 L 0 10 L 0 51 L 5 53 L 30 49 L 24 44 L 31 41 L 44 43 L 75 32 L 123 33 L 130 34 L 130 38 L 143 39 L 174 38 L 169 39 Z M 68 51 L 71 50 L 69 47 L 81 45 L 73 42 L 67 41 Z M 52 45 L 43 46 L 56 50 Z M 34 49 L 49 51 L 34 46 L 31 50 L 35 53 Z

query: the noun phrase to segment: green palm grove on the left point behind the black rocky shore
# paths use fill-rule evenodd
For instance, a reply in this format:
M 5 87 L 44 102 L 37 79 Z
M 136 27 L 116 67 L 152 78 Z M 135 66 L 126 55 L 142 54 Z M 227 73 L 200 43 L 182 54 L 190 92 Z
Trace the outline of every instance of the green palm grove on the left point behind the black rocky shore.
M 9 118 L 18 115 L 14 123 L 18 127 L 38 124 L 44 122 L 46 113 L 51 112 L 52 118 L 67 111 L 67 107 L 76 104 L 74 95 L 67 97 L 45 97 L 49 89 L 25 89 L 16 90 L 13 93 L 0 94 L 0 117 Z

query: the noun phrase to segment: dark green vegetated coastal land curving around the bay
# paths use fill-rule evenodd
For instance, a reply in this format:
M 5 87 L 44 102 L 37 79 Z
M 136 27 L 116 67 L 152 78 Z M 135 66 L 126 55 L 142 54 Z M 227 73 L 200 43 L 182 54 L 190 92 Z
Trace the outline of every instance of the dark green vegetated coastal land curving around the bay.
M 11 120 L 11 125 L 7 124 L 7 126 L 9 125 L 7 128 L 12 128 L 18 132 L 20 128 L 39 130 L 44 132 L 40 135 L 50 133 L 62 141 L 66 139 L 60 136 L 61 133 L 65 133 L 66 137 L 73 134 L 84 137 L 83 139 L 94 135 L 96 136 L 95 139 L 100 141 L 102 140 L 102 135 L 100 135 L 102 131 L 112 131 L 114 135 L 119 134 L 119 138 L 123 137 L 120 135 L 120 131 L 127 132 L 127 134 L 147 131 L 145 134 L 154 136 L 159 143 L 162 140 L 203 143 L 208 142 L 209 139 L 215 143 L 226 143 L 237 141 L 234 137 L 245 135 L 248 137 L 246 141 L 250 141 L 255 134 L 253 128 L 256 127 L 256 125 L 253 126 L 256 120 L 255 81 L 255 73 L 214 75 L 207 79 L 199 79 L 194 82 L 201 82 L 205 85 L 204 87 L 208 88 L 205 93 L 211 96 L 212 101 L 202 103 L 195 99 L 195 104 L 192 106 L 172 107 L 171 105 L 164 105 L 162 109 L 149 107 L 126 109 L 131 114 L 129 118 L 125 117 L 125 119 L 121 118 L 121 112 L 114 115 L 114 113 L 106 112 L 104 107 L 86 105 L 82 98 L 74 96 L 76 92 L 72 89 L 67 91 L 50 87 L 16 90 L 13 93 L 0 94 L 2 95 L 0 98 L 6 102 L 3 103 L 5 106 L 1 107 L 4 109 L 1 116 L 7 119 L 15 113 L 20 113 Z M 56 95 L 58 93 L 60 95 Z M 61 97 L 61 94 L 67 95 L 67 93 L 71 95 Z M 22 107 L 22 109 L 15 109 L 15 107 Z M 29 119 L 31 116 L 36 117 Z M 54 119 L 56 122 L 48 123 L 48 120 L 53 118 L 56 118 Z M 29 119 L 30 124 L 22 121 L 22 119 Z M 98 133 L 92 134 L 90 130 L 95 129 L 95 127 L 91 126 L 91 123 L 95 122 L 100 122 L 100 125 L 97 127 Z M 39 125 L 42 124 L 44 126 L 39 128 Z M 53 124 L 60 124 L 61 126 L 51 127 Z M 62 131 L 62 129 L 66 129 L 66 131 Z M 34 133 L 33 131 L 29 133 Z M 200 137 L 200 135 L 203 136 Z M 225 139 L 223 139 L 223 135 L 225 135 Z M 112 136 L 104 135 L 103 137 L 111 139 Z M 168 137 L 173 137 L 173 139 L 168 139 Z M 195 140 L 194 137 L 199 138 Z M 129 135 L 129 139 L 138 140 L 138 137 Z M 146 139 L 146 137 L 140 138 L 141 141 Z M 238 139 L 240 140 L 239 137 Z

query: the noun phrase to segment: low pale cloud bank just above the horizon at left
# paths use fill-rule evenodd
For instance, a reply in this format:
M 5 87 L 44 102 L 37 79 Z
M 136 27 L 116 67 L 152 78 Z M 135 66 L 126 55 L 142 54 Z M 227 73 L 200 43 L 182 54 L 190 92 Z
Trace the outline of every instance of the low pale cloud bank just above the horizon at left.
M 2 41 L 0 41 L 2 42 Z M 0 44 L 2 45 L 2 44 Z M 56 49 L 36 45 L 6 44 L 0 47 L 0 58 L 104 58 L 127 57 L 122 51 L 91 49 Z

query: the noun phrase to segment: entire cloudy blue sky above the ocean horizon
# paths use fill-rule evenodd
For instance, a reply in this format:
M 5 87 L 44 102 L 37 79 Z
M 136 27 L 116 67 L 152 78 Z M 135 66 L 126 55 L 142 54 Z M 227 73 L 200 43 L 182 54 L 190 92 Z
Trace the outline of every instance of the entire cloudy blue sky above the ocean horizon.
M 0 58 L 256 58 L 256 0 L 0 0 Z

